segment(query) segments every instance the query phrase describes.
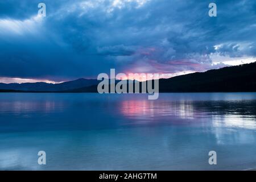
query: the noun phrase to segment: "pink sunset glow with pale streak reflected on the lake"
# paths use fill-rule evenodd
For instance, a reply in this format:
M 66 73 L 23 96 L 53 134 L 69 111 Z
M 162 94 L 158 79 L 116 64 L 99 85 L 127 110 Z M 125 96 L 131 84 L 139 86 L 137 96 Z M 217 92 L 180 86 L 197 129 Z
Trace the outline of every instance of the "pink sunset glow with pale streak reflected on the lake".
M 193 104 L 185 101 L 125 100 L 121 102 L 120 113 L 129 119 L 146 121 L 191 120 L 199 117 Z

